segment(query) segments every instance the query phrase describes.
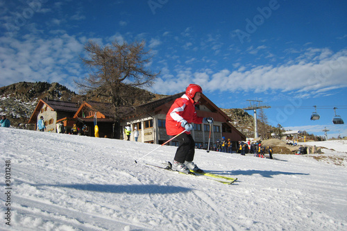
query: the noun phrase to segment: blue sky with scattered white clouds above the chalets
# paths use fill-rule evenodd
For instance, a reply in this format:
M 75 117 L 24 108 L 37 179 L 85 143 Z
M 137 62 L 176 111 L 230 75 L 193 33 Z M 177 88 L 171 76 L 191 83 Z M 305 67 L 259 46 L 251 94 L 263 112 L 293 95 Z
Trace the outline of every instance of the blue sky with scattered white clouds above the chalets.
M 88 40 L 144 40 L 160 71 L 152 92 L 197 83 L 220 108 L 259 100 L 273 126 L 347 136 L 332 123 L 334 107 L 347 120 L 347 1 L 0 0 L 0 20 L 0 86 L 48 81 L 78 92 Z

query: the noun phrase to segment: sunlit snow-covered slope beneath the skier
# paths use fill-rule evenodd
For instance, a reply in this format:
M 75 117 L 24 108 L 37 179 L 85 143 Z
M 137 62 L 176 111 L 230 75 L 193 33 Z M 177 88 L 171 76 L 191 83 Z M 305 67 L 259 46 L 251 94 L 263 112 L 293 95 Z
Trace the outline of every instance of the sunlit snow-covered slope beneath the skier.
M 239 178 L 223 185 L 144 164 L 171 161 L 174 146 L 139 160 L 158 146 L 12 128 L 0 136 L 1 230 L 347 230 L 346 141 L 312 143 L 333 148 L 319 157 L 338 165 L 197 150 L 202 169 Z

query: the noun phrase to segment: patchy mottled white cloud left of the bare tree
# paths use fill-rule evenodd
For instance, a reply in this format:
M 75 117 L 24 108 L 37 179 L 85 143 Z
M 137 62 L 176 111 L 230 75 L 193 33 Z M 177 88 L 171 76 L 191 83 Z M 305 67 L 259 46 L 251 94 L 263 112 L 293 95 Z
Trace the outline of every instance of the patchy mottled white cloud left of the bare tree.
M 79 60 L 83 44 L 67 34 L 51 40 L 35 35 L 26 35 L 24 40 L 1 37 L 0 51 L 1 85 L 49 81 L 74 87 L 73 78 L 85 74 Z

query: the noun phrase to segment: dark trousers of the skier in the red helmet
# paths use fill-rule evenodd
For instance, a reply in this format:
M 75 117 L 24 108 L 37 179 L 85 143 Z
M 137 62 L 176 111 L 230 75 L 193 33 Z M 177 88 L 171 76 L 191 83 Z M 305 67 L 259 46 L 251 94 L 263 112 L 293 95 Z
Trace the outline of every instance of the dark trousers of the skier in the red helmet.
M 188 135 L 183 132 L 181 135 L 176 137 L 178 141 L 178 148 L 174 160 L 180 163 L 185 161 L 193 161 L 195 153 L 195 142 L 192 135 Z

